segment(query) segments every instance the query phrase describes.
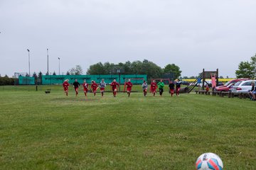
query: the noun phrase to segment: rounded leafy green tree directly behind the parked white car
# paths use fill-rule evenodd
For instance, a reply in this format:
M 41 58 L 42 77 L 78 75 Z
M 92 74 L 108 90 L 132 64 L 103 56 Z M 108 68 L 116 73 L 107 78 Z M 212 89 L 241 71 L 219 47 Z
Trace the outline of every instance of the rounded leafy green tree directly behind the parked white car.
M 254 68 L 250 62 L 240 62 L 235 74 L 238 78 L 252 78 L 254 77 Z

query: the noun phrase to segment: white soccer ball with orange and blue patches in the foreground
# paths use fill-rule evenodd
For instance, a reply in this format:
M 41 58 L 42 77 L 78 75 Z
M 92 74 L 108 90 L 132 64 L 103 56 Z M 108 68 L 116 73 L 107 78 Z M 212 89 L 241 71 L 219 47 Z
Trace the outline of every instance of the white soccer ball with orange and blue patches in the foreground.
M 196 160 L 198 170 L 222 170 L 223 162 L 217 154 L 204 153 Z

